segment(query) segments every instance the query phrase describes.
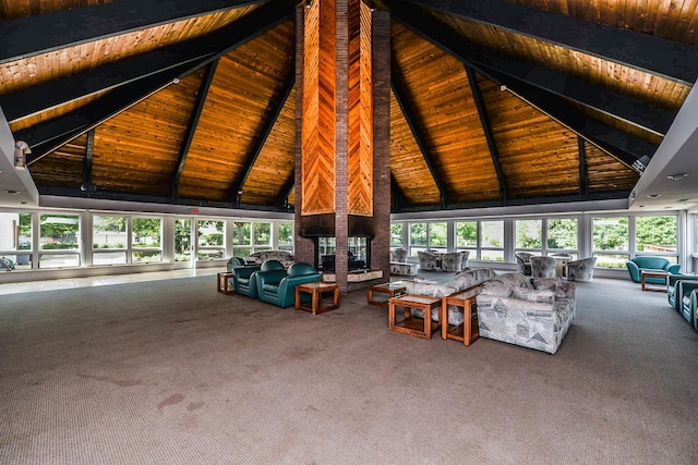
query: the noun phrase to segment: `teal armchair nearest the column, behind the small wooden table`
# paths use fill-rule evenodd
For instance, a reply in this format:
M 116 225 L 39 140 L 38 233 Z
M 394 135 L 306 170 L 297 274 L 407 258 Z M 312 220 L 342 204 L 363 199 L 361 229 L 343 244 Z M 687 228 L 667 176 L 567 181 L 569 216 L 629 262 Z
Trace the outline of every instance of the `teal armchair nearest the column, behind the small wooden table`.
M 258 271 L 255 278 L 260 301 L 285 308 L 294 304 L 296 286 L 320 281 L 320 273 L 312 265 L 297 262 L 288 271 Z M 310 298 L 308 295 L 303 296 Z

